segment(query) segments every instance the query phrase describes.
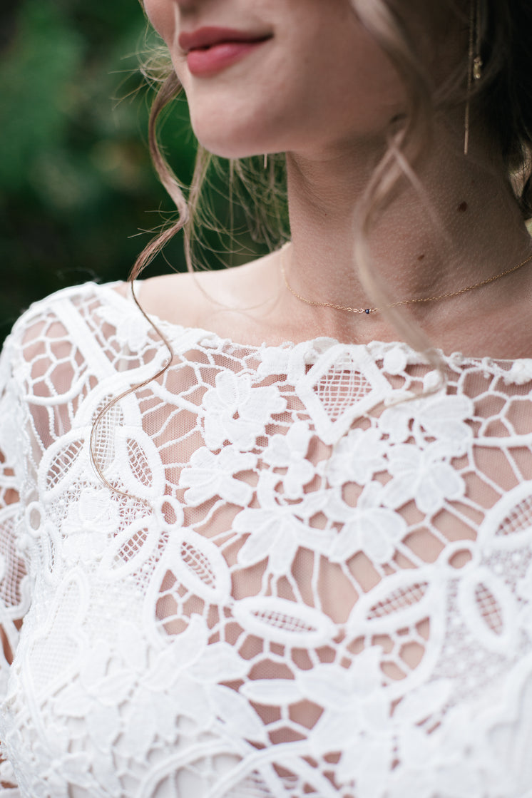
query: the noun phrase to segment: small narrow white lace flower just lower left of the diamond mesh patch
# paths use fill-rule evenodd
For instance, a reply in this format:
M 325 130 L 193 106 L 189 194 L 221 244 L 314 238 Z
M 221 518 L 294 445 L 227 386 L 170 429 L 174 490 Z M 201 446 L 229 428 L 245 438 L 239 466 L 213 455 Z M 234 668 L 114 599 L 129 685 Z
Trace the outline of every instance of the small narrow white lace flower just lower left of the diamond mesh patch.
M 282 477 L 282 484 L 288 499 L 299 499 L 303 487 L 314 476 L 313 464 L 305 460 L 311 437 L 309 425 L 305 421 L 298 421 L 290 427 L 286 435 L 274 435 L 262 455 L 265 463 L 275 468 L 287 469 Z

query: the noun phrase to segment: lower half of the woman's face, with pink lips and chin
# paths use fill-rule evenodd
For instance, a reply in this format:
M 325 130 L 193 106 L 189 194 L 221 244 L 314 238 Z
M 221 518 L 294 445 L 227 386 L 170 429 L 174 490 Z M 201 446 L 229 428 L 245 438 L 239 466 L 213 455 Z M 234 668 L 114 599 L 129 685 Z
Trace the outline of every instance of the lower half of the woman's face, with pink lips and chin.
M 170 49 L 195 134 L 217 155 L 334 156 L 382 136 L 404 109 L 395 70 L 349 0 L 144 6 Z

